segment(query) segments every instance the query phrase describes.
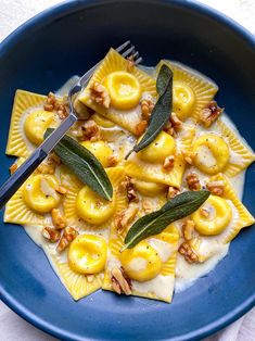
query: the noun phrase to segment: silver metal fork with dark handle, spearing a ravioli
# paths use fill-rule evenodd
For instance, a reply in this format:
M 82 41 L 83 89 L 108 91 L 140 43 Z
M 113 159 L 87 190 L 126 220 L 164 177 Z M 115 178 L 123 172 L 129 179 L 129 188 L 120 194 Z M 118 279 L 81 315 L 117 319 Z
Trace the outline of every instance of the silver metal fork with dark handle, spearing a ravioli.
M 137 65 L 141 63 L 142 58 L 139 56 L 139 52 L 136 51 L 130 40 L 120 45 L 116 51 L 126 59 L 132 59 Z M 0 209 L 12 198 L 12 195 L 18 190 L 24 181 L 31 175 L 31 173 L 38 167 L 38 165 L 47 157 L 52 149 L 62 139 L 65 132 L 73 126 L 73 124 L 79 119 L 78 114 L 74 109 L 73 98 L 82 90 L 89 83 L 95 68 L 99 66 L 100 61 L 92 68 L 90 68 L 77 84 L 68 92 L 69 115 L 62 122 L 62 124 L 34 151 L 34 153 L 11 175 L 11 177 L 0 188 Z

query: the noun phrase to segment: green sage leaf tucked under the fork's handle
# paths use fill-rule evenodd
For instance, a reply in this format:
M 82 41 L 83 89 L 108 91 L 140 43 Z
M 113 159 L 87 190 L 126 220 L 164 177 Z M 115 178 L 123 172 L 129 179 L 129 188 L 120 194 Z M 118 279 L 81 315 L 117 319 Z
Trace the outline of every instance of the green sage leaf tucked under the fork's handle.
M 53 131 L 47 129 L 44 138 Z M 85 147 L 69 136 L 64 136 L 54 147 L 54 152 L 84 184 L 88 185 L 100 197 L 111 200 L 113 187 L 98 159 Z

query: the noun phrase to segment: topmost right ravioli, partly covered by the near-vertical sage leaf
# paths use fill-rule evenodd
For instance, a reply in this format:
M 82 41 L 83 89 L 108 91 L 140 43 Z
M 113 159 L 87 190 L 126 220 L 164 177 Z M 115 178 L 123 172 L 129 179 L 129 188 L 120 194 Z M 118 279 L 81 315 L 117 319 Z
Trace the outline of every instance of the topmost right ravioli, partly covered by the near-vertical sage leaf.
M 217 93 L 217 85 L 213 80 L 176 62 L 162 60 L 156 66 L 157 72 L 163 64 L 168 65 L 174 73 L 173 111 L 181 121 L 186 121 L 189 117 L 199 121 L 201 110 Z

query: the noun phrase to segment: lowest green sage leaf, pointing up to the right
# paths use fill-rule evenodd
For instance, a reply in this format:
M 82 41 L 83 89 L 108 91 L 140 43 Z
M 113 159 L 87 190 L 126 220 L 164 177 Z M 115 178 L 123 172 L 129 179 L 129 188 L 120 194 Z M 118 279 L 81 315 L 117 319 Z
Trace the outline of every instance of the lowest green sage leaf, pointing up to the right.
M 169 200 L 161 210 L 144 215 L 130 227 L 123 250 L 133 248 L 141 240 L 161 233 L 169 224 L 192 214 L 209 194 L 206 190 L 187 191 Z

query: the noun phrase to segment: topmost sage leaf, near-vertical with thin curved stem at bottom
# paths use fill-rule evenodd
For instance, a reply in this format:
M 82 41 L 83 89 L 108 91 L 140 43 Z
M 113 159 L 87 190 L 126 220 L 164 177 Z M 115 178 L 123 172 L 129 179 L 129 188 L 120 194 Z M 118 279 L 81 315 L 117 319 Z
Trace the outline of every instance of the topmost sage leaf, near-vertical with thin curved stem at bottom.
M 126 155 L 126 160 L 132 152 L 137 153 L 154 141 L 170 117 L 173 109 L 173 72 L 165 64 L 160 70 L 156 79 L 156 90 L 158 100 L 151 113 L 148 129 L 138 144 Z

